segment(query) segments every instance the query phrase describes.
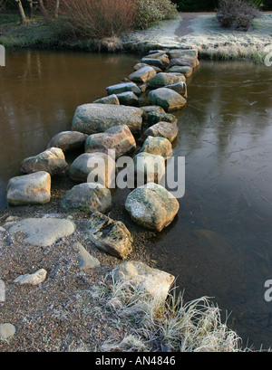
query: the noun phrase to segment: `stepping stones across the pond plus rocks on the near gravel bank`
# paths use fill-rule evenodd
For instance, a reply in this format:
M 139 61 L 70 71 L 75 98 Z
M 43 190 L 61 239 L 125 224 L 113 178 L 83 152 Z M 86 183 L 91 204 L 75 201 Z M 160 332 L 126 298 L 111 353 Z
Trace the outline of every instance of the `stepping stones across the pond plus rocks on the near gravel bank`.
M 144 174 L 146 184 L 132 190 L 125 202 L 133 222 L 160 232 L 173 221 L 180 207 L 177 199 L 157 184 L 164 175 L 165 159 L 172 156 L 171 142 L 179 131 L 177 119 L 169 112 L 186 104 L 186 79 L 198 65 L 198 51 L 195 49 L 151 51 L 134 66 L 129 79 L 106 89 L 108 96 L 78 107 L 71 131 L 58 133 L 43 153 L 23 160 L 21 171 L 24 175 L 11 178 L 8 182 L 8 204 L 50 202 L 52 178 L 68 173 L 79 184 L 63 195 L 62 207 L 91 212 L 87 223 L 90 241 L 102 251 L 121 259 L 127 258 L 132 251 L 131 233 L 123 223 L 115 222 L 104 214 L 112 208 L 109 187 L 116 172 L 115 161 L 125 155 L 132 156 L 137 147 L 135 138 L 140 136 L 141 152 L 133 157 L 134 171 L 140 159 L 143 163 L 160 163 L 156 176 L 152 176 L 154 182 L 149 182 L 149 174 Z M 64 153 L 83 148 L 85 153 L 69 166 Z M 114 157 L 111 157 L 112 150 Z M 107 176 L 102 176 L 103 185 L 87 182 L 93 171 L 92 163 L 96 163 L 97 158 L 106 164 Z M 75 225 L 69 220 L 45 218 L 22 220 L 9 232 L 26 232 L 29 236 L 25 242 L 41 245 L 44 241 L 46 246 L 74 230 Z M 99 266 L 99 261 L 93 259 L 80 243 L 74 245 L 74 249 L 79 253 L 81 268 Z M 122 280 L 136 277 L 138 283 L 145 281 L 147 289 L 152 286 L 152 294 L 160 291 L 163 299 L 174 280 L 164 271 L 135 261 L 121 263 L 114 272 L 116 279 L 119 279 L 118 276 Z M 45 279 L 46 270 L 40 269 L 34 274 L 18 277 L 15 282 L 37 285 Z M 4 282 L 0 282 L 1 298 L 5 301 Z M 15 327 L 11 324 L 0 325 L 0 337 L 12 337 L 14 333 Z

